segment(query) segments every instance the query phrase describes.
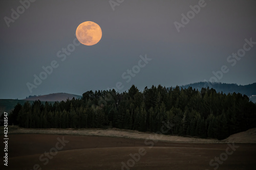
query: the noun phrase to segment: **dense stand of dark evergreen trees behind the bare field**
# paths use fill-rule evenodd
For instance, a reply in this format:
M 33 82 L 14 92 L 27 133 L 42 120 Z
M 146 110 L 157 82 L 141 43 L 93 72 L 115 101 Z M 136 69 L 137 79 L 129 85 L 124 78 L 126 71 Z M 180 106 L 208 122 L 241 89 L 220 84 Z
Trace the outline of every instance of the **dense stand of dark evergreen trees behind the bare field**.
M 82 99 L 16 105 L 10 121 L 25 128 L 120 128 L 224 139 L 256 127 L 256 105 L 241 93 L 134 85 L 128 92 L 87 91 Z

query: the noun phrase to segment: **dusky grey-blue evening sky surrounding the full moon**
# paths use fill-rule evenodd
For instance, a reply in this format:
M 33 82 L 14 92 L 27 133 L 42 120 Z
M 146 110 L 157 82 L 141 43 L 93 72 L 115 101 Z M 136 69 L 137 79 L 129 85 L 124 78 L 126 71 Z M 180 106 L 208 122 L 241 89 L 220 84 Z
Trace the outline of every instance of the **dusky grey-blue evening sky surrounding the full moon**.
M 0 1 L 0 99 L 255 83 L 255 7 L 247 0 Z M 68 48 L 84 21 L 101 27 L 101 40 Z M 71 51 L 62 61 L 63 48 Z

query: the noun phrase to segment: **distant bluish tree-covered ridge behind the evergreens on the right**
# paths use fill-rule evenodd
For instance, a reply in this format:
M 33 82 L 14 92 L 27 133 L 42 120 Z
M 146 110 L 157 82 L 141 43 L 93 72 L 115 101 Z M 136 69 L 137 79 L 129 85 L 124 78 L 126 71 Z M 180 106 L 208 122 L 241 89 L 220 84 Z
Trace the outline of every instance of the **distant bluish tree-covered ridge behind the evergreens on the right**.
M 180 88 L 188 88 L 192 87 L 193 89 L 201 90 L 201 88 L 213 88 L 217 92 L 223 92 L 225 94 L 228 93 L 241 93 L 245 94 L 249 97 L 249 99 L 255 103 L 256 102 L 256 83 L 248 84 L 248 85 L 237 85 L 237 84 L 228 84 L 228 83 L 211 83 L 211 82 L 198 82 L 198 83 L 191 83 L 187 85 L 179 86 Z

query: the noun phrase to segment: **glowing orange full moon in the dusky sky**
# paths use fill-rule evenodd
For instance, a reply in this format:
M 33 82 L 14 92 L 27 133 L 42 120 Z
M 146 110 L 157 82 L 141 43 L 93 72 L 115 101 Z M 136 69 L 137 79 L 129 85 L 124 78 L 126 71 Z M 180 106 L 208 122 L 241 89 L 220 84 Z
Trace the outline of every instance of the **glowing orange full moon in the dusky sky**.
M 76 29 L 76 38 L 84 45 L 94 45 L 101 39 L 102 32 L 97 23 L 82 22 Z

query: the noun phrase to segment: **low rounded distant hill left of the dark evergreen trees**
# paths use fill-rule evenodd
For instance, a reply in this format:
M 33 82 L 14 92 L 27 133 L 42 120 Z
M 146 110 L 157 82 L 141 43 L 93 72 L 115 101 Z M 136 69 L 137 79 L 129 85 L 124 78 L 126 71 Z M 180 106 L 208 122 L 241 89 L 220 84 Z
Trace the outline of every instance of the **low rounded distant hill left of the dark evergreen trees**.
M 81 95 L 75 95 L 75 94 L 69 94 L 69 93 L 52 93 L 47 95 L 40 95 L 40 96 L 32 96 L 31 98 L 23 99 L 25 101 L 47 101 L 47 102 L 61 102 L 61 101 L 67 101 L 67 99 L 72 100 L 80 99 Z

